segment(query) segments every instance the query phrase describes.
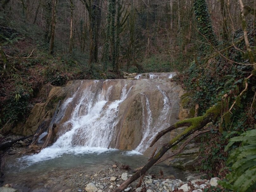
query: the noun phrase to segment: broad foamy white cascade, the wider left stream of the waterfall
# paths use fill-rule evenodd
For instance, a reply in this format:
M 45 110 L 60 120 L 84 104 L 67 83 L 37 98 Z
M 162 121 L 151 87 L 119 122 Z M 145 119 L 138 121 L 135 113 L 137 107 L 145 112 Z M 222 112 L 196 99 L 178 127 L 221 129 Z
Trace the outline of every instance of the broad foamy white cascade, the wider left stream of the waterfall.
M 127 98 L 131 88 L 127 90 L 125 85 L 119 100 L 108 101 L 112 86 L 107 91 L 102 89 L 98 94 L 93 91 L 93 85 L 87 87 L 80 95 L 72 117 L 65 123 L 66 126 L 71 125 L 71 129 L 61 135 L 52 146 L 21 160 L 31 164 L 57 158 L 64 153 L 102 153 L 115 150 L 109 149 L 109 144 L 116 131 L 119 105 Z M 72 99 L 64 102 L 65 107 L 70 100 Z

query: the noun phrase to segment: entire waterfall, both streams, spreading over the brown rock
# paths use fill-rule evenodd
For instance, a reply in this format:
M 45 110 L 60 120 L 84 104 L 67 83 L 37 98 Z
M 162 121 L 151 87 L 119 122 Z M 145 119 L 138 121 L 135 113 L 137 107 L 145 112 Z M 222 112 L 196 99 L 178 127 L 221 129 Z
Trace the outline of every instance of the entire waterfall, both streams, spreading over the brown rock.
M 64 154 L 117 150 L 120 142 L 130 139 L 121 137 L 120 133 L 125 131 L 127 123 L 136 120 L 137 115 L 141 117 L 138 119 L 141 125 L 135 123 L 137 128 L 133 131 L 137 131 L 141 139 L 133 144 L 134 148 L 130 147 L 132 151 L 125 154 L 142 154 L 159 131 L 176 121 L 172 113 L 177 113 L 179 105 L 173 107 L 171 103 L 178 99 L 178 95 L 166 92 L 170 81 L 165 79 L 170 75 L 149 74 L 143 78 L 139 75 L 139 80 L 77 81 L 77 88 L 64 100 L 56 117 L 56 141 L 40 153 L 22 157 L 21 160 L 33 164 Z M 137 96 L 140 100 L 136 100 Z M 139 109 L 129 112 L 134 102 L 141 103 L 141 112 Z M 133 113 L 135 119 L 130 119 L 127 113 Z M 133 124 L 128 128 L 131 127 Z

